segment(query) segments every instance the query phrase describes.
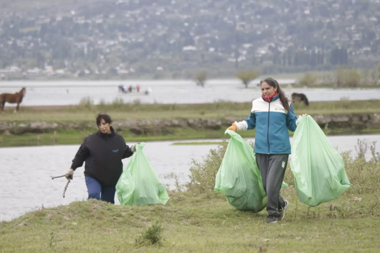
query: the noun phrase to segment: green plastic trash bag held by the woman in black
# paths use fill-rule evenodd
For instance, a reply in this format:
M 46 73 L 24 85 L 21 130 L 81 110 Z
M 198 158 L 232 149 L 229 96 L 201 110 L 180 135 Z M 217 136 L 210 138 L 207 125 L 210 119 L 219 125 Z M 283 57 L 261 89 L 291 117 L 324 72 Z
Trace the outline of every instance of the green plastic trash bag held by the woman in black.
M 169 200 L 165 186 L 142 152 L 144 145 L 136 144 L 136 152 L 117 181 L 117 198 L 123 206 L 165 205 Z

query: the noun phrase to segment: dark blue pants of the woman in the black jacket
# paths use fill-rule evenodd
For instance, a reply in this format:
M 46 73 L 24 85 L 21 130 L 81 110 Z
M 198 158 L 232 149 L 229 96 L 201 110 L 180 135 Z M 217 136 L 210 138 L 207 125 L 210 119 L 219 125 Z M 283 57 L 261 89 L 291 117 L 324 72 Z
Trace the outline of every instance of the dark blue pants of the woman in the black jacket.
M 115 204 L 115 185 L 105 186 L 94 177 L 84 177 L 86 180 L 88 199 L 103 200 Z

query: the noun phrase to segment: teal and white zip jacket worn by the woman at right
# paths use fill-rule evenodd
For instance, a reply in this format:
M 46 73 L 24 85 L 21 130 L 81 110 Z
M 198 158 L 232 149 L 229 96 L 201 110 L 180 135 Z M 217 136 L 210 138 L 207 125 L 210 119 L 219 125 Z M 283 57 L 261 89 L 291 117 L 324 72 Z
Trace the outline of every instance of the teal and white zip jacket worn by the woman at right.
M 288 130 L 296 130 L 297 116 L 294 114 L 293 105 L 290 102 L 289 105 L 288 112 L 282 106 L 278 94 L 270 102 L 261 97 L 253 100 L 252 110 L 247 119 L 235 122 L 238 131 L 256 128 L 255 153 L 291 153 Z

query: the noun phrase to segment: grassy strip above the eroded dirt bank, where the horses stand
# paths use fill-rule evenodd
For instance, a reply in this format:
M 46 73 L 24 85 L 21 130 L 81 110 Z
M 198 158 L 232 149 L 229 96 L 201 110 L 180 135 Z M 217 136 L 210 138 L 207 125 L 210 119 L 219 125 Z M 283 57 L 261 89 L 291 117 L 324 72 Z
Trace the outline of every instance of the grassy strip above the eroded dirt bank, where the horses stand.
M 252 102 L 233 103 L 225 101 L 207 104 L 141 104 L 138 100 L 134 103 L 115 100 L 111 104 L 101 103 L 94 105 L 90 100 L 83 99 L 77 106 L 21 106 L 21 112 L 19 113 L 14 113 L 13 109 L 8 108 L 0 114 L 0 119 L 18 122 L 39 120 L 46 122 L 93 121 L 98 112 L 108 112 L 114 120 L 174 117 L 247 117 L 251 107 Z M 380 100 L 310 102 L 309 107 L 296 102 L 294 103 L 294 112 L 296 114 L 308 113 L 310 115 L 380 112 Z

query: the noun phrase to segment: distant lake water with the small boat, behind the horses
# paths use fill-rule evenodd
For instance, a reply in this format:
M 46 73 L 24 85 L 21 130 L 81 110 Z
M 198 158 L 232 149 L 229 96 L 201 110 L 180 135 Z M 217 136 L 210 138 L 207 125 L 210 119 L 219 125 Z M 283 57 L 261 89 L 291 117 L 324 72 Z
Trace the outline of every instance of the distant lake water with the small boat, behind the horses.
M 261 92 L 254 80 L 250 84 L 253 89 L 244 89 L 238 79 L 209 80 L 204 88 L 196 86 L 190 80 L 168 81 L 125 81 L 125 85 L 140 84 L 141 91 L 152 89 L 150 95 L 143 93 L 123 94 L 118 92 L 117 86 L 121 81 L 46 81 L 46 82 L 0 82 L 0 93 L 14 93 L 27 87 L 22 101 L 25 106 L 68 105 L 78 104 L 79 101 L 90 96 L 95 104 L 101 100 L 107 103 L 116 98 L 125 102 L 139 99 L 142 103 L 212 103 L 218 100 L 245 102 L 261 96 Z M 292 79 L 279 79 L 280 84 L 294 82 Z M 309 101 L 338 101 L 342 97 L 350 100 L 380 99 L 378 90 L 352 89 L 303 89 L 286 88 L 285 93 L 304 93 Z M 14 106 L 15 104 L 11 105 Z M 10 106 L 6 104 L 6 106 Z

